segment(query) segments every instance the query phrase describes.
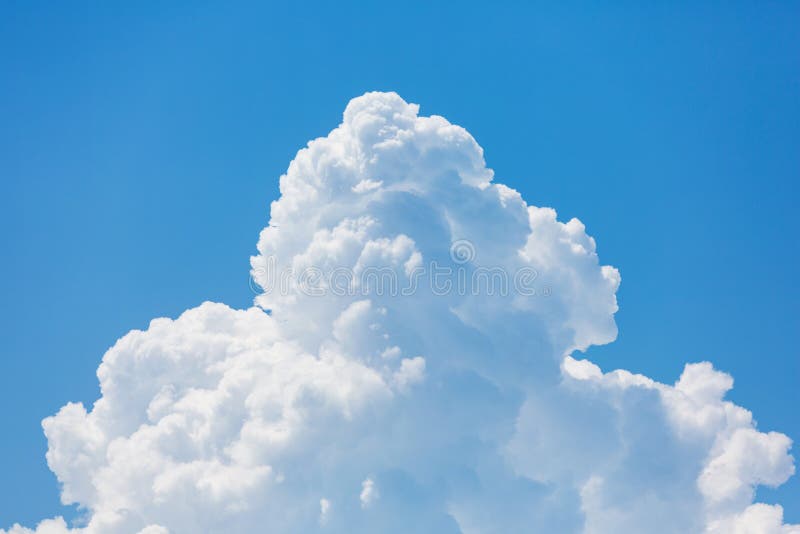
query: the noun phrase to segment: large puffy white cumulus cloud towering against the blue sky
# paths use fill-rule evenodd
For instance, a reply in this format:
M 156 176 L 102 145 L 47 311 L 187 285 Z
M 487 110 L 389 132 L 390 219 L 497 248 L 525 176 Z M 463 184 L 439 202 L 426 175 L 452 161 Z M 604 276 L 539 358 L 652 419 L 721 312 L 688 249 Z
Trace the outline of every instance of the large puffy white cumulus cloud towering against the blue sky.
M 753 504 L 791 442 L 730 376 L 577 354 L 616 337 L 619 273 L 463 128 L 366 94 L 280 190 L 255 307 L 130 332 L 94 406 L 44 420 L 84 515 L 35 532 L 800 532 Z

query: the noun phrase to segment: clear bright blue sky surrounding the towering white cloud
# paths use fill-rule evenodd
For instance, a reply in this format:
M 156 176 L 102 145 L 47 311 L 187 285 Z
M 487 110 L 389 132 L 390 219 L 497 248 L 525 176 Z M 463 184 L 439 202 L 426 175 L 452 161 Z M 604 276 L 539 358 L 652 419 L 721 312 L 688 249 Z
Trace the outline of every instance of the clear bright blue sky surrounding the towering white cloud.
M 251 303 L 278 177 L 368 90 L 587 225 L 623 279 L 594 361 L 710 360 L 800 440 L 800 4 L 115 4 L 0 7 L 0 525 L 71 515 L 40 421 L 119 336 Z M 800 522 L 797 476 L 759 498 Z

